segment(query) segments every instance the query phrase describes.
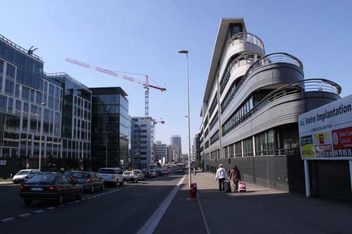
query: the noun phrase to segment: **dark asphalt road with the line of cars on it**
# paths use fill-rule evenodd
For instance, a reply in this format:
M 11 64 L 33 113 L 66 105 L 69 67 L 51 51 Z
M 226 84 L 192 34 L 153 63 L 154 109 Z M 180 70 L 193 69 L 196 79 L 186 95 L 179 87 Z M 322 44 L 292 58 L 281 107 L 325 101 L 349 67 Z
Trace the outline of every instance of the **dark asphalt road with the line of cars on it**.
M 106 187 L 104 192 L 84 193 L 80 202 L 33 201 L 24 205 L 20 185 L 1 186 L 1 234 L 36 233 L 137 233 L 153 218 L 160 204 L 174 190 L 183 173 L 145 179 L 138 183 Z

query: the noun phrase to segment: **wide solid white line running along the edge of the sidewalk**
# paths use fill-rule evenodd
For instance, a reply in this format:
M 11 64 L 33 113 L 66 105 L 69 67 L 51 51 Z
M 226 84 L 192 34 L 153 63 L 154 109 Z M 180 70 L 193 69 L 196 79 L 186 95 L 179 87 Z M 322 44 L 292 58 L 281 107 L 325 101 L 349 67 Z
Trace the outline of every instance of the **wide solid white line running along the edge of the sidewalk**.
M 186 176 L 186 175 L 185 175 Z M 156 226 L 159 224 L 162 216 L 165 214 L 167 208 L 169 207 L 172 199 L 176 195 L 180 184 L 182 184 L 182 181 L 184 180 L 184 177 L 180 178 L 178 181 L 178 184 L 176 185 L 175 189 L 170 193 L 168 197 L 161 203 L 159 208 L 154 212 L 152 217 L 144 224 L 144 226 L 137 232 L 137 234 L 153 234 Z

